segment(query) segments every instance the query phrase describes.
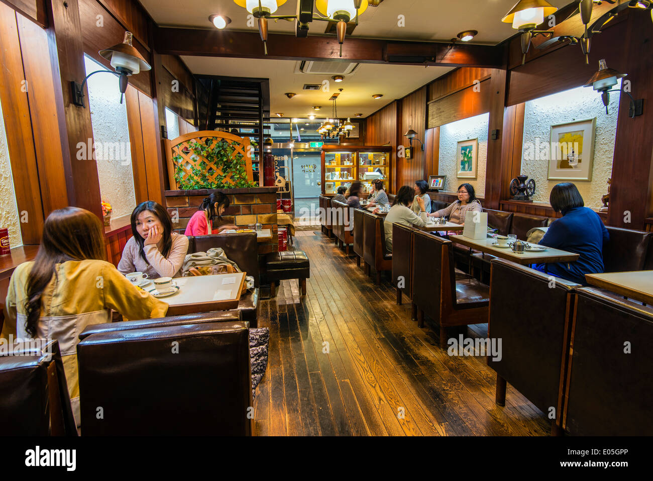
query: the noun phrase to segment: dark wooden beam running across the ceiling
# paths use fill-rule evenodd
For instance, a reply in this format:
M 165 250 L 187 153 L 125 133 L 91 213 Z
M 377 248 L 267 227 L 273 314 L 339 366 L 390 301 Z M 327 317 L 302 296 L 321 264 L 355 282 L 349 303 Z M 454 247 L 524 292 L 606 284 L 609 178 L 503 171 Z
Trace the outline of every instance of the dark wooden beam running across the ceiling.
M 155 49 L 161 54 L 262 58 L 275 60 L 343 60 L 359 63 L 436 65 L 443 67 L 501 67 L 503 46 L 456 44 L 451 42 L 401 42 L 348 37 L 342 48 L 336 37 L 270 33 L 268 55 L 258 32 L 219 31 L 157 27 Z

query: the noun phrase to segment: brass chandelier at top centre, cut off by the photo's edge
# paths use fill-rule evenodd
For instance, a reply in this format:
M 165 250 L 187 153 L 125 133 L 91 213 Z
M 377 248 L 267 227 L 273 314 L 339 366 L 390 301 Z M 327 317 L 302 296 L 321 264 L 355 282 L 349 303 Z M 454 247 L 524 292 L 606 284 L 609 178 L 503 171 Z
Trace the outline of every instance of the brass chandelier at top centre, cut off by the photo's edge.
M 280 5 L 287 0 L 234 0 L 240 7 L 247 8 L 259 23 L 259 33 L 263 41 L 264 54 L 268 54 L 268 20 L 295 21 L 296 37 L 308 37 L 308 27 L 313 20 L 321 22 L 338 22 L 336 33 L 340 44 L 342 57 L 342 44 L 345 41 L 347 24 L 354 20 L 358 25 L 358 16 L 368 7 L 368 0 L 315 0 L 315 8 L 322 16 L 313 15 L 313 0 L 297 0 L 295 15 L 273 15 Z

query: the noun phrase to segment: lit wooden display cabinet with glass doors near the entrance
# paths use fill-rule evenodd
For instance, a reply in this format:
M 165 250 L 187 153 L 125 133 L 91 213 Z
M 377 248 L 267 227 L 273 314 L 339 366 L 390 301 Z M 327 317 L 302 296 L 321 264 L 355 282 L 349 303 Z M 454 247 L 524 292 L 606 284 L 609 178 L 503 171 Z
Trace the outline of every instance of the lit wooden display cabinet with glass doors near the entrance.
M 336 195 L 338 187 L 354 180 L 362 183 L 363 192 L 369 192 L 375 178 L 383 180 L 389 190 L 391 175 L 390 146 L 322 146 L 322 195 Z

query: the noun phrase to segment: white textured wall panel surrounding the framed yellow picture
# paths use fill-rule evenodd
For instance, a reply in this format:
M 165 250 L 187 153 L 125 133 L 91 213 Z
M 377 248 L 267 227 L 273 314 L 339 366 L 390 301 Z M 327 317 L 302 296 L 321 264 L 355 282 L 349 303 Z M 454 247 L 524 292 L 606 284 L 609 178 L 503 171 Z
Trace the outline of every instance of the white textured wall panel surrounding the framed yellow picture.
M 605 114 L 601 96 L 592 88 L 584 87 L 573 88 L 526 102 L 524 148 L 529 145 L 527 142 L 534 145 L 538 139 L 540 144 L 546 142 L 545 145 L 548 146 L 551 125 L 596 117 L 592 180 L 569 180 L 577 186 L 586 207 L 599 208 L 603 206 L 601 196 L 607 193 L 608 188 L 605 182 L 612 175 L 618 109 L 618 93 L 610 94 L 609 114 Z M 521 173 L 535 179 L 536 187 L 533 200 L 549 202 L 549 194 L 553 186 L 566 181 L 548 180 L 549 161 L 524 159 L 523 152 L 524 149 L 522 149 Z

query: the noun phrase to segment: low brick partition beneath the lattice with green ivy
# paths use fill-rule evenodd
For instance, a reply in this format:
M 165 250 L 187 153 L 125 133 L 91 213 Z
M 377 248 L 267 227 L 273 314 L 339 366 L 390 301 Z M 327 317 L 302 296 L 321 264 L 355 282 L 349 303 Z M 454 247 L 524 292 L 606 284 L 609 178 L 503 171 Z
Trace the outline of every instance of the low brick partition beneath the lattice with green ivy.
M 277 225 L 277 190 L 275 187 L 259 187 L 251 189 L 217 189 L 217 190 L 167 190 L 165 202 L 170 216 L 172 228 L 182 233 L 189 220 L 197 212 L 204 197 L 212 192 L 222 192 L 229 197 L 230 205 L 223 214 L 223 222 L 219 224 L 235 224 L 243 227 L 254 228 L 259 222 L 263 229 L 272 229 L 272 240 L 259 243 L 259 254 L 277 252 L 279 246 Z M 178 222 L 174 222 L 178 220 Z

